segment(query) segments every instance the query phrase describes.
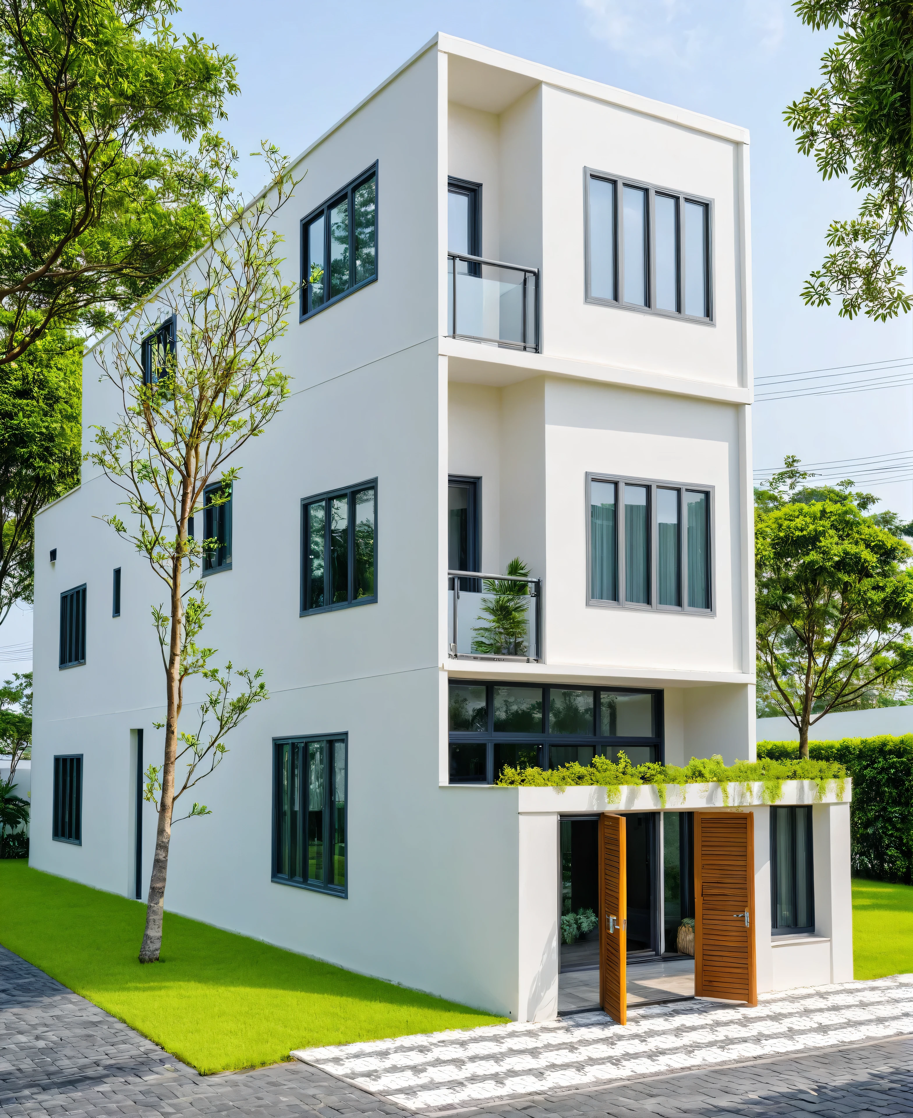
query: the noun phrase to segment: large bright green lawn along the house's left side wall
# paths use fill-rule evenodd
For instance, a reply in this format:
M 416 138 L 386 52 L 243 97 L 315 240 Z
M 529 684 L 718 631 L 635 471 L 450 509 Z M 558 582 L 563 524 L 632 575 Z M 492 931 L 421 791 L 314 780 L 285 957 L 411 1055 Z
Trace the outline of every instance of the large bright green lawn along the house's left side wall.
M 165 912 L 161 961 L 136 961 L 145 906 L 0 861 L 0 944 L 198 1071 L 293 1049 L 505 1021 Z

